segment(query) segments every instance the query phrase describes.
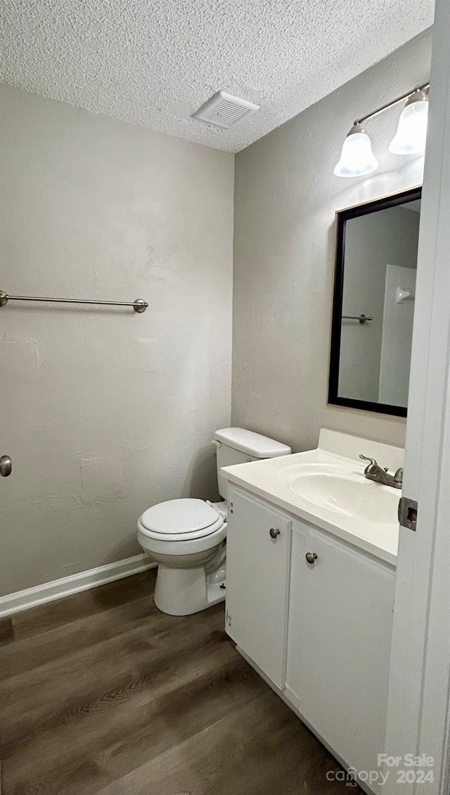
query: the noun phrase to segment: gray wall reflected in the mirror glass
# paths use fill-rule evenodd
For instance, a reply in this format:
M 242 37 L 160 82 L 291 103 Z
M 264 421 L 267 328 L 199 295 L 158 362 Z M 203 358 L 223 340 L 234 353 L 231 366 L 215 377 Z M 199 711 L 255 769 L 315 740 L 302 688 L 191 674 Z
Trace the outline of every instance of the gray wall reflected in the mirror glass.
M 379 400 L 387 265 L 417 268 L 419 220 L 418 212 L 388 207 L 345 224 L 342 314 L 363 313 L 373 320 L 363 326 L 355 320 L 342 321 L 340 397 Z

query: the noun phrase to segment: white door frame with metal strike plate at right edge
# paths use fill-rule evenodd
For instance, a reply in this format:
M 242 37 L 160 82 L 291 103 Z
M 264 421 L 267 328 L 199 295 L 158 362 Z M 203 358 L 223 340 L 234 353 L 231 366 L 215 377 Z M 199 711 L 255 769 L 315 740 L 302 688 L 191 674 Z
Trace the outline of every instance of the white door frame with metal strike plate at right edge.
M 386 752 L 434 758 L 434 781 L 386 795 L 450 791 L 450 3 L 437 0 L 421 201 L 403 494 L 417 532 L 400 528 Z

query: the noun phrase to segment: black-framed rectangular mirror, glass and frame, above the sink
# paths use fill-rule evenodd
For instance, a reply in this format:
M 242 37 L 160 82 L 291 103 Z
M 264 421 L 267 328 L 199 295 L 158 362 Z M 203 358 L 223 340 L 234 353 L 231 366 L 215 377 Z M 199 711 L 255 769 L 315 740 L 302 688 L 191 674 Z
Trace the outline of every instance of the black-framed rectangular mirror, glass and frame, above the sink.
M 329 403 L 406 417 L 421 188 L 337 213 Z

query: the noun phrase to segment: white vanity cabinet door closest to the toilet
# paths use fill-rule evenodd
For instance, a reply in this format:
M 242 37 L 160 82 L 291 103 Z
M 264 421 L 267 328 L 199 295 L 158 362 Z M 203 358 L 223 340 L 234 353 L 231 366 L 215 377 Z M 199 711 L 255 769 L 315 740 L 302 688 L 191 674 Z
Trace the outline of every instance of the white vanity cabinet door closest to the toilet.
M 289 551 L 290 520 L 231 489 L 226 631 L 279 688 L 284 677 Z

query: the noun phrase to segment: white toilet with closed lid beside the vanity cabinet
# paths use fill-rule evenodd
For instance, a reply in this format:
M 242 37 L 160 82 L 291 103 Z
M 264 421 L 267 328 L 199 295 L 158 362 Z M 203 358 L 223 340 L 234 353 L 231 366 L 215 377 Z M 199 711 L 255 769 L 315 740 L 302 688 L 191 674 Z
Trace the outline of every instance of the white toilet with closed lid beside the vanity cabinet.
M 221 502 L 182 498 L 144 510 L 137 540 L 158 565 L 156 607 L 190 615 L 225 599 L 227 481 L 221 467 L 290 455 L 290 447 L 243 428 L 216 431 L 217 482 Z

